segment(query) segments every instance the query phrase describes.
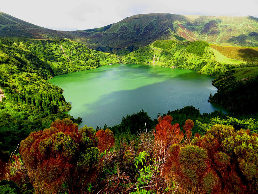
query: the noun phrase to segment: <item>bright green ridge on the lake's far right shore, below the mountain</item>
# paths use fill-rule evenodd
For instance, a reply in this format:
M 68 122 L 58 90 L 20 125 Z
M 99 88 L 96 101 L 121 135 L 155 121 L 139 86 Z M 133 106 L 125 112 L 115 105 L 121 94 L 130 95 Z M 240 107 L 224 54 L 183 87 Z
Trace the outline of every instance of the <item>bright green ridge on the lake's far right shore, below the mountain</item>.
M 129 53 L 123 58 L 128 64 L 150 64 L 171 68 L 196 70 L 199 73 L 218 76 L 235 67 L 250 66 L 247 63 L 219 63 L 205 41 L 157 40 Z

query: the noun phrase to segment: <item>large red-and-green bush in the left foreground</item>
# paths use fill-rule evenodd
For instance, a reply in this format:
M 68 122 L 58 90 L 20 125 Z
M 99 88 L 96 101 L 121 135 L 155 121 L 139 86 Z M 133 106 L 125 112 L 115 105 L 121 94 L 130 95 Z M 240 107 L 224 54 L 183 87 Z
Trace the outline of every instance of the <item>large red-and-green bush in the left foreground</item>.
M 58 193 L 67 184 L 69 193 L 83 193 L 98 167 L 95 130 L 66 118 L 49 129 L 32 132 L 21 142 L 20 154 L 35 193 Z

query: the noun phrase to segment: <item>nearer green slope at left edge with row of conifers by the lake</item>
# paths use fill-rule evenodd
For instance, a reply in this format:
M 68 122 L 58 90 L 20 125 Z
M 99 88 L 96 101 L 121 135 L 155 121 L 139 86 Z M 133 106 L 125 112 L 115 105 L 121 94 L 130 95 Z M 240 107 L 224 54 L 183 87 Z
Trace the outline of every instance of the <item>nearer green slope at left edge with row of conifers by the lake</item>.
M 46 61 L 4 39 L 0 39 L 0 61 L 0 88 L 6 96 L 4 101 L 35 105 L 48 114 L 69 109 L 61 95 L 62 89 L 46 80 L 54 75 Z

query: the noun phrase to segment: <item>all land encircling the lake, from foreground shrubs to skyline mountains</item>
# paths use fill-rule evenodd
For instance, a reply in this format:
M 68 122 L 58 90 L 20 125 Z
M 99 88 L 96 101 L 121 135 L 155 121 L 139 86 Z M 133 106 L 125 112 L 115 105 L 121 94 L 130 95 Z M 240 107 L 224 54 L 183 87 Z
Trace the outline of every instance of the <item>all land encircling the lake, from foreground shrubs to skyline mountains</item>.
M 214 76 L 218 91 L 207 98 L 231 114 L 186 105 L 154 120 L 142 110 L 113 127 L 79 130 L 63 89 L 47 80 L 121 63 Z M 141 14 L 56 31 L 0 12 L 0 190 L 257 193 L 257 83 L 252 16 Z

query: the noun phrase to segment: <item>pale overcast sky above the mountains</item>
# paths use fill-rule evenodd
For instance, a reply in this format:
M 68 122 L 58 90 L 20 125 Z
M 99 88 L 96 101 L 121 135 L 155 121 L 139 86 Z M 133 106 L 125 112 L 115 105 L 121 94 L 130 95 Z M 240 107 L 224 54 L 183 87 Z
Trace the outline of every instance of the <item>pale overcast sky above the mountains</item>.
M 143 13 L 258 17 L 258 0 L 3 0 L 0 11 L 56 30 L 92 29 Z

